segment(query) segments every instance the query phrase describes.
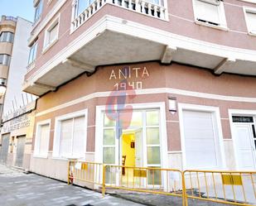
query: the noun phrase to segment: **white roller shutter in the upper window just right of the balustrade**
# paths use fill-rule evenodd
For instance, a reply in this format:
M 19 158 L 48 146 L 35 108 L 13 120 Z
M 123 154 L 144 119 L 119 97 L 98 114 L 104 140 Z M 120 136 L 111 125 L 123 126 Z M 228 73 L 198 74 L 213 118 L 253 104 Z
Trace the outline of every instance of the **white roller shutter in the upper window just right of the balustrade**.
M 197 20 L 220 25 L 218 4 L 196 0 L 195 6 Z

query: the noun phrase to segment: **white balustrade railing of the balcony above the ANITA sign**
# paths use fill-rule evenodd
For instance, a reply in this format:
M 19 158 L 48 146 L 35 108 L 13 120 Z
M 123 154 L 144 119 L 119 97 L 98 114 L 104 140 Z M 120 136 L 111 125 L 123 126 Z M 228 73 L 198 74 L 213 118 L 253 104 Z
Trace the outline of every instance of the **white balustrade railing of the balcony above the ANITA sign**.
M 75 29 L 85 23 L 89 17 L 99 11 L 100 7 L 103 7 L 105 3 L 110 3 L 134 12 L 142 13 L 149 17 L 156 17 L 162 20 L 168 19 L 167 7 L 162 7 L 146 0 L 95 0 L 85 9 L 84 12 L 82 12 L 78 17 L 75 17 L 72 21 L 72 31 L 75 31 Z M 75 5 L 73 9 L 75 9 Z

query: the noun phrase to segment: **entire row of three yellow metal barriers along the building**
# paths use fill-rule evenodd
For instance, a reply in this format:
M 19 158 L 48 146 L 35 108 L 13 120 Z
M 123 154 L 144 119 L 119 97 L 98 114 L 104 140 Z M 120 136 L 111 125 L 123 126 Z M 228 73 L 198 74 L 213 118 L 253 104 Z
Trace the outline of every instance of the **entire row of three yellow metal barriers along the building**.
M 256 171 L 175 170 L 157 167 L 104 165 L 72 160 L 68 184 L 90 189 L 135 191 L 180 197 L 220 204 L 256 205 Z

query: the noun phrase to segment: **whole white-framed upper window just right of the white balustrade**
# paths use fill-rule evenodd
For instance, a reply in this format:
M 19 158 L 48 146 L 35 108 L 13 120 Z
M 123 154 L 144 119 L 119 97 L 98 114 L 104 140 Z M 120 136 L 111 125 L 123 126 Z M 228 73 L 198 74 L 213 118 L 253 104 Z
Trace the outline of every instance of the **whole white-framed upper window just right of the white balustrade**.
M 194 0 L 196 22 L 226 27 L 225 10 L 220 0 Z

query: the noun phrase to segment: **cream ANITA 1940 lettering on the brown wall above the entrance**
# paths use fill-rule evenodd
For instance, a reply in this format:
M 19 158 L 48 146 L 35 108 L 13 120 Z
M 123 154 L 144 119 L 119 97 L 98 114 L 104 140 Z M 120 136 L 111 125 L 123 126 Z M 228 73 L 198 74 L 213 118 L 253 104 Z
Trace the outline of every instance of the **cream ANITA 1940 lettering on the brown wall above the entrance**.
M 142 79 L 149 77 L 147 67 L 123 67 L 122 69 L 112 69 L 109 80 L 118 80 L 119 83 L 114 84 L 115 90 L 142 89 Z M 126 80 L 126 81 L 122 81 Z

